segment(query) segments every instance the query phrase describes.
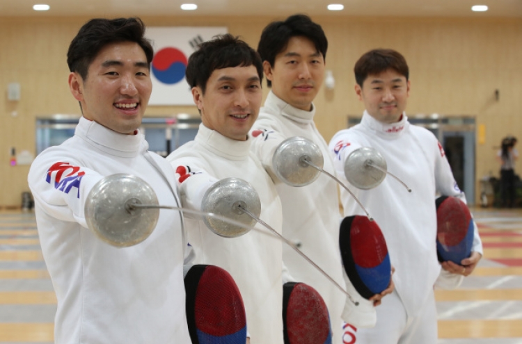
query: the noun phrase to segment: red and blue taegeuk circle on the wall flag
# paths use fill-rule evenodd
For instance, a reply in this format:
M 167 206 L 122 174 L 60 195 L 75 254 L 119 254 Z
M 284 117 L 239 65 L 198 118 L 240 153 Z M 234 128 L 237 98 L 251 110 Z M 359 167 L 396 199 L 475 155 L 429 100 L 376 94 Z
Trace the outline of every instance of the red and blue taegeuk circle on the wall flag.
M 187 69 L 187 56 L 173 47 L 160 49 L 152 59 L 152 74 L 161 83 L 173 85 L 183 80 Z

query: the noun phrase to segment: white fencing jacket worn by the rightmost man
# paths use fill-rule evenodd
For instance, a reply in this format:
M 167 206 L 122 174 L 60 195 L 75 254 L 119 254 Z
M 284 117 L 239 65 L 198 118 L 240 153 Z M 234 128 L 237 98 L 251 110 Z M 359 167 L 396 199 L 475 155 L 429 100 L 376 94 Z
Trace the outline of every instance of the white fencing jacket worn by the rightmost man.
M 408 193 L 389 176 L 370 190 L 351 186 L 345 178 L 345 160 L 360 147 L 377 149 L 386 159 L 388 171 L 412 192 Z M 395 289 L 408 315 L 416 316 L 429 293 L 433 293 L 436 281 L 445 288 L 456 288 L 462 280 L 461 275 L 441 273 L 436 254 L 436 195 L 459 197 L 466 202 L 441 144 L 427 129 L 411 125 L 406 114 L 400 122 L 385 124 L 365 111 L 361 124 L 336 133 L 329 149 L 338 177 L 347 183 L 383 231 L 396 269 Z M 346 216 L 363 214 L 344 189 L 341 199 Z M 482 254 L 476 225 L 473 251 Z

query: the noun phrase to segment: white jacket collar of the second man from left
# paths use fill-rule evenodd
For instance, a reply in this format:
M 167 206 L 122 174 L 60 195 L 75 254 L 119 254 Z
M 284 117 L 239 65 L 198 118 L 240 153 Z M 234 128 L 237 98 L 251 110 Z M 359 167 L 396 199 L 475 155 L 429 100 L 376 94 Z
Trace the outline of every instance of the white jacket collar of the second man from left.
M 246 138 L 246 141 L 232 140 L 215 130 L 208 129 L 203 123 L 199 125 L 199 130 L 194 140 L 207 147 L 212 153 L 235 161 L 242 161 L 248 158 L 252 142 L 250 136 Z

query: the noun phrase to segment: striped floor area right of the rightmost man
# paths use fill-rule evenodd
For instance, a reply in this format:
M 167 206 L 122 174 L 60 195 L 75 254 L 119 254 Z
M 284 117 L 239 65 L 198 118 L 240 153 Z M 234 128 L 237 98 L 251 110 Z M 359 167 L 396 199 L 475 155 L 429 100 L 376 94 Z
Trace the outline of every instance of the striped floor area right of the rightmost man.
M 522 344 L 522 210 L 475 208 L 484 258 L 457 290 L 437 290 L 440 344 Z

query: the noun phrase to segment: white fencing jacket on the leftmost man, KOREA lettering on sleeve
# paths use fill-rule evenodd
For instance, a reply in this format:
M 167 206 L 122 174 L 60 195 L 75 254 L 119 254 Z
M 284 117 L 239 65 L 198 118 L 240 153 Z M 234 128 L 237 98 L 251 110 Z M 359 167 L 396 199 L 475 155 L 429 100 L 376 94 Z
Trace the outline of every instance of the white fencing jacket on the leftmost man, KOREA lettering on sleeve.
M 171 166 L 147 149 L 141 133 L 122 135 L 82 117 L 72 138 L 31 165 L 38 235 L 58 299 L 55 343 L 190 343 L 180 213 L 161 210 L 152 234 L 132 247 L 113 247 L 86 228 L 86 197 L 111 174 L 134 174 L 159 204 L 177 205 L 166 182 L 175 188 Z

